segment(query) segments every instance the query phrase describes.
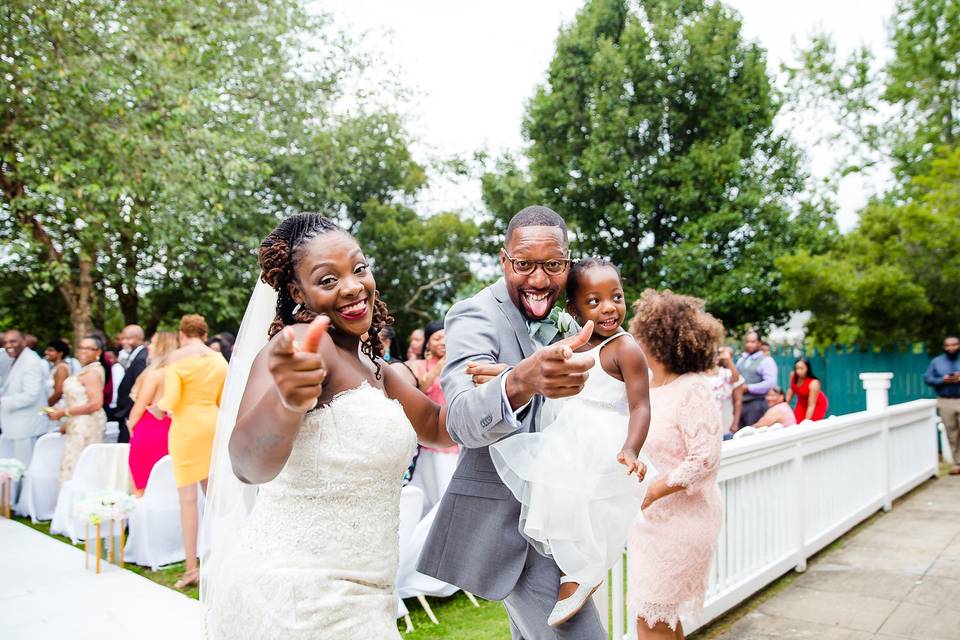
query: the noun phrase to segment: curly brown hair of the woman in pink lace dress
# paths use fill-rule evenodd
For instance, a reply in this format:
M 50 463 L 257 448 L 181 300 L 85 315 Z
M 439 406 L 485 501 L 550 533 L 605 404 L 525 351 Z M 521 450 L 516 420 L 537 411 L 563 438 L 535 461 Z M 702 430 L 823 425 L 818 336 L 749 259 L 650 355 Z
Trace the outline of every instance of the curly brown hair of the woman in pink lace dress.
M 700 298 L 647 289 L 633 303 L 630 333 L 673 373 L 713 368 L 723 325 Z

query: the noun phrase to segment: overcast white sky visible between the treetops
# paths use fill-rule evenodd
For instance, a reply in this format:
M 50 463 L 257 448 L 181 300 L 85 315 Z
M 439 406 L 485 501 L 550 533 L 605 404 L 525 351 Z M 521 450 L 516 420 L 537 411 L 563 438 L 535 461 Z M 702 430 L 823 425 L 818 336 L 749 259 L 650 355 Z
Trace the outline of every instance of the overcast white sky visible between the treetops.
M 317 0 L 365 47 L 380 51 L 401 83 L 413 89 L 405 107 L 422 161 L 493 155 L 523 145 L 520 123 L 541 83 L 561 25 L 583 0 Z M 866 45 L 886 57 L 886 25 L 893 0 L 727 0 L 743 16 L 744 34 L 769 52 L 771 69 L 791 59 L 793 41 L 828 30 L 841 52 Z M 803 134 L 798 134 L 801 143 Z M 811 166 L 823 175 L 829 149 L 813 150 Z M 839 194 L 841 228 L 849 229 L 867 197 L 886 177 L 846 178 Z M 481 209 L 479 185 L 435 181 L 424 195 L 428 210 Z

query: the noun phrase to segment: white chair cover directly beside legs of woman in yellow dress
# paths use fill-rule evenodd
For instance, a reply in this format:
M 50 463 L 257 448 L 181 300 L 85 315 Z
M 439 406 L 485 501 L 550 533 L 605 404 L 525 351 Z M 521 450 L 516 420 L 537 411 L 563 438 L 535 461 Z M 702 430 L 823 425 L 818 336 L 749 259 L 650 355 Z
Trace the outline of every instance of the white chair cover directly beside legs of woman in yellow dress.
M 143 497 L 137 499 L 123 559 L 156 571 L 184 557 L 180 498 L 173 479 L 173 462 L 166 455 L 153 466 Z

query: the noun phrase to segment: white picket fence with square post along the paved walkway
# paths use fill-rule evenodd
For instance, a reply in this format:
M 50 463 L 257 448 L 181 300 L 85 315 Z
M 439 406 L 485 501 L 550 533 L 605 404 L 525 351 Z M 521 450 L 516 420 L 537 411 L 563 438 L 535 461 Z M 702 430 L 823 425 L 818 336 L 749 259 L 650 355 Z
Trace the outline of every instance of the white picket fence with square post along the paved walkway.
M 723 444 L 724 521 L 703 613 L 690 633 L 736 607 L 879 509 L 936 475 L 933 400 L 887 406 L 891 374 L 862 374 L 867 411 Z M 883 383 L 886 382 L 886 385 Z M 629 562 L 626 563 L 629 566 Z M 595 599 L 611 638 L 635 638 L 624 567 Z M 608 589 L 608 585 L 615 587 Z

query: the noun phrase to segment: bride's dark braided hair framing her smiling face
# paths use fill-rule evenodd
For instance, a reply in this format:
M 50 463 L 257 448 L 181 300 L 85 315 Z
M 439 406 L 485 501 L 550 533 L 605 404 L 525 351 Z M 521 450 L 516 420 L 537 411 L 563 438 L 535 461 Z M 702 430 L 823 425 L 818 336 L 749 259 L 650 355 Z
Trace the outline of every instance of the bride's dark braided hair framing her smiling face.
M 277 314 L 267 332 L 272 338 L 284 327 L 300 322 L 312 322 L 317 314 L 301 305 L 294 313 L 297 303 L 290 295 L 290 283 L 294 281 L 297 264 L 302 258 L 300 248 L 305 242 L 323 233 L 339 232 L 350 235 L 332 220 L 318 213 L 298 213 L 286 218 L 276 229 L 260 243 L 260 279 L 277 292 Z M 383 357 L 383 344 L 380 342 L 380 330 L 393 324 L 393 318 L 387 305 L 376 292 L 373 305 L 373 321 L 367 339 L 360 345 L 360 351 L 373 362 L 376 376 L 380 377 L 379 359 Z M 334 327 L 331 325 L 330 330 Z

